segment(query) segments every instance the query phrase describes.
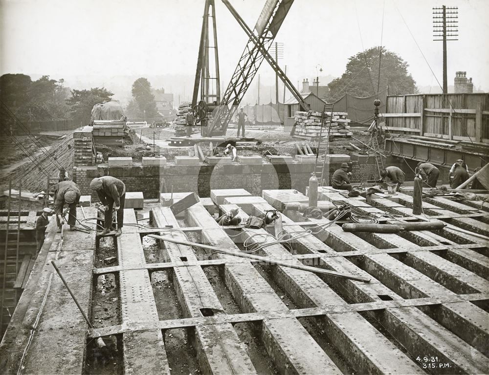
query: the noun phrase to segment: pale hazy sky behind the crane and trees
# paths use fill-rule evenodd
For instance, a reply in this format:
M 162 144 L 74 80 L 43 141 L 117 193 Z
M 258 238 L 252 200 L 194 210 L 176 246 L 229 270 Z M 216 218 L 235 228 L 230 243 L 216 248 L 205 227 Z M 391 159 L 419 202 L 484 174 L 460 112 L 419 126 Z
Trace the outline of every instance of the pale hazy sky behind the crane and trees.
M 230 2 L 251 27 L 265 4 Z M 349 57 L 381 42 L 409 64 L 419 86 L 442 84 L 442 42 L 432 41 L 431 13 L 443 4 L 459 12 L 459 40 L 447 42 L 448 84 L 463 70 L 475 88 L 489 91 L 489 0 L 295 0 L 275 39 L 284 44 L 279 64 L 295 84 L 339 77 Z M 0 6 L 0 74 L 47 74 L 73 88 L 159 76 L 156 87 L 186 96 L 192 90 L 204 0 L 0 0 Z M 220 0 L 216 20 L 227 86 L 247 37 Z M 262 85 L 274 84 L 267 62 L 259 73 Z

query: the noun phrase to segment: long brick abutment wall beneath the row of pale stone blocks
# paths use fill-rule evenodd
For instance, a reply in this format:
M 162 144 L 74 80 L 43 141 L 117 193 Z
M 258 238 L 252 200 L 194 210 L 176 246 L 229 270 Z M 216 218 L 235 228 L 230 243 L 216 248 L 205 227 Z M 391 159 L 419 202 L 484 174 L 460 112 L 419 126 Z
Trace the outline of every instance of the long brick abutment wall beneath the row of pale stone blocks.
M 335 170 L 339 164 L 330 164 Z M 229 164 L 229 165 L 173 165 L 132 167 L 107 167 L 106 165 L 77 166 L 74 180 L 83 195 L 92 194 L 89 184 L 98 176 L 114 176 L 124 181 L 127 191 L 142 191 L 145 198 L 156 198 L 160 180 L 166 191 L 195 191 L 200 197 L 209 197 L 212 189 L 243 188 L 254 195 L 261 195 L 264 189 L 296 189 L 306 192 L 306 186 L 314 170 L 314 163 L 289 164 Z M 328 170 L 328 166 L 327 166 Z

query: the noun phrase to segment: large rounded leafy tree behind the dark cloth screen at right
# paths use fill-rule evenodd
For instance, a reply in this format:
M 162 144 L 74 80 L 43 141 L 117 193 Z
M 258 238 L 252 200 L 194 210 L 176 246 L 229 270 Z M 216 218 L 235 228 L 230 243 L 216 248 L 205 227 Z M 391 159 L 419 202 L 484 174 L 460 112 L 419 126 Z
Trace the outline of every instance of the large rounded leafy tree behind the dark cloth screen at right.
M 381 48 L 381 49 L 380 49 Z M 380 56 L 380 51 L 382 55 Z M 378 84 L 380 61 L 380 83 Z M 341 78 L 328 84 L 328 101 L 340 99 L 346 92 L 357 97 L 375 95 L 389 87 L 389 95 L 415 94 L 416 82 L 408 73 L 409 65 L 394 52 L 383 47 L 372 47 L 348 59 Z

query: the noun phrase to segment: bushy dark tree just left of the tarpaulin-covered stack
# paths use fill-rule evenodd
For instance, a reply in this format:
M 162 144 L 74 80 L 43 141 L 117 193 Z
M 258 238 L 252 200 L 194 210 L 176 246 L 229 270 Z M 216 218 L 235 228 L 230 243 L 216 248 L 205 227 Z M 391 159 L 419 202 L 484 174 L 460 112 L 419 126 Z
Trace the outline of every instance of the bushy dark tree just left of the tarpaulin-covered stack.
M 71 106 L 74 119 L 84 124 L 90 122 L 90 113 L 97 103 L 109 102 L 114 94 L 106 88 L 90 88 L 89 90 L 71 90 L 71 97 L 67 104 Z

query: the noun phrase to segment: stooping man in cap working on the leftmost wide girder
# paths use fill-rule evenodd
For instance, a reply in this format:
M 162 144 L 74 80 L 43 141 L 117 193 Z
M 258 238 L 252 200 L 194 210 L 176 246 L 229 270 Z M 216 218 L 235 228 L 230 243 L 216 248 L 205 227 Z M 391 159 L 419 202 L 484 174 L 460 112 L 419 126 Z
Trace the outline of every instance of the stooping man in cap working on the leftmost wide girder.
M 61 226 L 65 221 L 65 215 L 69 210 L 68 224 L 70 230 L 76 230 L 76 206 L 80 203 L 81 192 L 73 181 L 61 181 L 54 188 L 54 212 L 56 213 L 57 233 L 61 233 Z M 63 210 L 63 207 L 67 208 Z

